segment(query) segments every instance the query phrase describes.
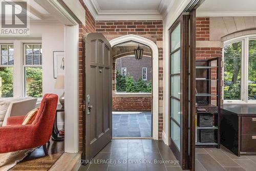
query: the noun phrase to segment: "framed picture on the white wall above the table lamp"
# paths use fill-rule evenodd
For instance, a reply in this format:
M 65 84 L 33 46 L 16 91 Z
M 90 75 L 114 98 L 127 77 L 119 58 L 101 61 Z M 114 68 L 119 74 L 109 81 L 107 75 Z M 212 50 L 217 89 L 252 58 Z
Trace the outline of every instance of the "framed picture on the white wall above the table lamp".
M 53 77 L 57 75 L 65 75 L 64 51 L 53 51 Z

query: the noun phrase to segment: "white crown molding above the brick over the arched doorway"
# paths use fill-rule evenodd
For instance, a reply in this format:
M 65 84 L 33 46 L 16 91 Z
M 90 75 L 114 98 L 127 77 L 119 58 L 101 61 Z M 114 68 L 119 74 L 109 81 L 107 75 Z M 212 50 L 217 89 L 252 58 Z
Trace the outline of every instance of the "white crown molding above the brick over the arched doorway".
M 165 0 L 162 0 L 165 1 Z M 101 10 L 96 0 L 83 0 L 95 20 L 162 20 L 159 10 Z

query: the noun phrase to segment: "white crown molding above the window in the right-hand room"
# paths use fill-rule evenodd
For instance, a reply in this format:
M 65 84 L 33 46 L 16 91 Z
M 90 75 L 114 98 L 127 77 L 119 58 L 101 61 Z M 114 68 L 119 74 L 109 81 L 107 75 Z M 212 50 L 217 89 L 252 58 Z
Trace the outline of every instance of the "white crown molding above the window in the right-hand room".
M 197 11 L 198 17 L 215 16 L 256 16 L 256 11 Z

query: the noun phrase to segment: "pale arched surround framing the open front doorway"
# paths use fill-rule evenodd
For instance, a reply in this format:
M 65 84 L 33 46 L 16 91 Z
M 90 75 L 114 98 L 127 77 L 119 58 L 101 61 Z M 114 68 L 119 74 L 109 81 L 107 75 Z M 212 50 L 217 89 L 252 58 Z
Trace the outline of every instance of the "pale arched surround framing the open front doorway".
M 158 99 L 158 82 L 159 82 L 159 76 L 158 76 L 158 47 L 157 45 L 150 39 L 141 37 L 141 36 L 137 36 L 134 34 L 130 34 L 130 35 L 125 35 L 125 36 L 121 36 L 121 37 L 117 37 L 113 40 L 110 41 L 111 46 L 115 46 L 118 44 L 121 44 L 123 42 L 126 41 L 136 41 L 136 42 L 140 42 L 141 44 L 147 45 L 148 47 L 150 47 L 152 49 L 152 60 L 153 60 L 153 88 L 152 88 L 152 96 L 153 96 L 153 108 L 152 108 L 152 119 L 153 119 L 153 139 L 158 140 L 158 103 L 159 103 L 159 99 Z

